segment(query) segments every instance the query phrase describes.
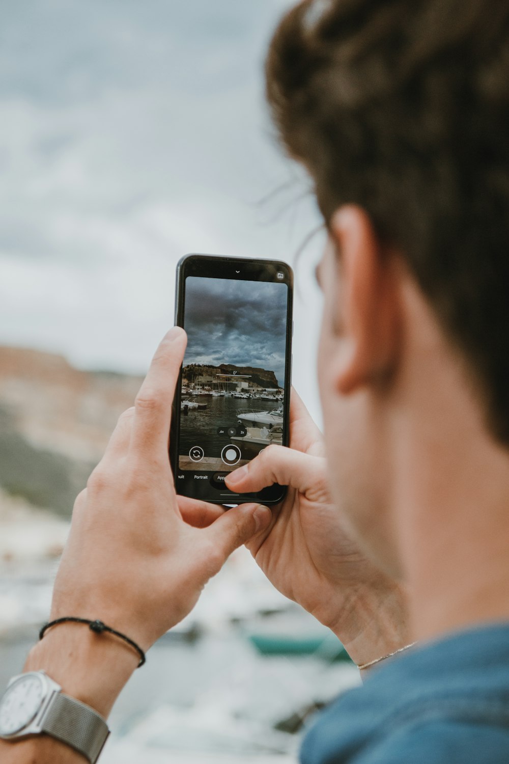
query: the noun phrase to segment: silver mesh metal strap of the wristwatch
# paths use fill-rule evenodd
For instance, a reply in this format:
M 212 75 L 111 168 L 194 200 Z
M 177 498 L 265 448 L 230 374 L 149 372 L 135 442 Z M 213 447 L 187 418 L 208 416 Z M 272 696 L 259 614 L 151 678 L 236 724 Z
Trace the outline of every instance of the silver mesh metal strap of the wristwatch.
M 61 692 L 53 696 L 42 724 L 43 732 L 82 753 L 95 764 L 110 730 L 92 708 Z

